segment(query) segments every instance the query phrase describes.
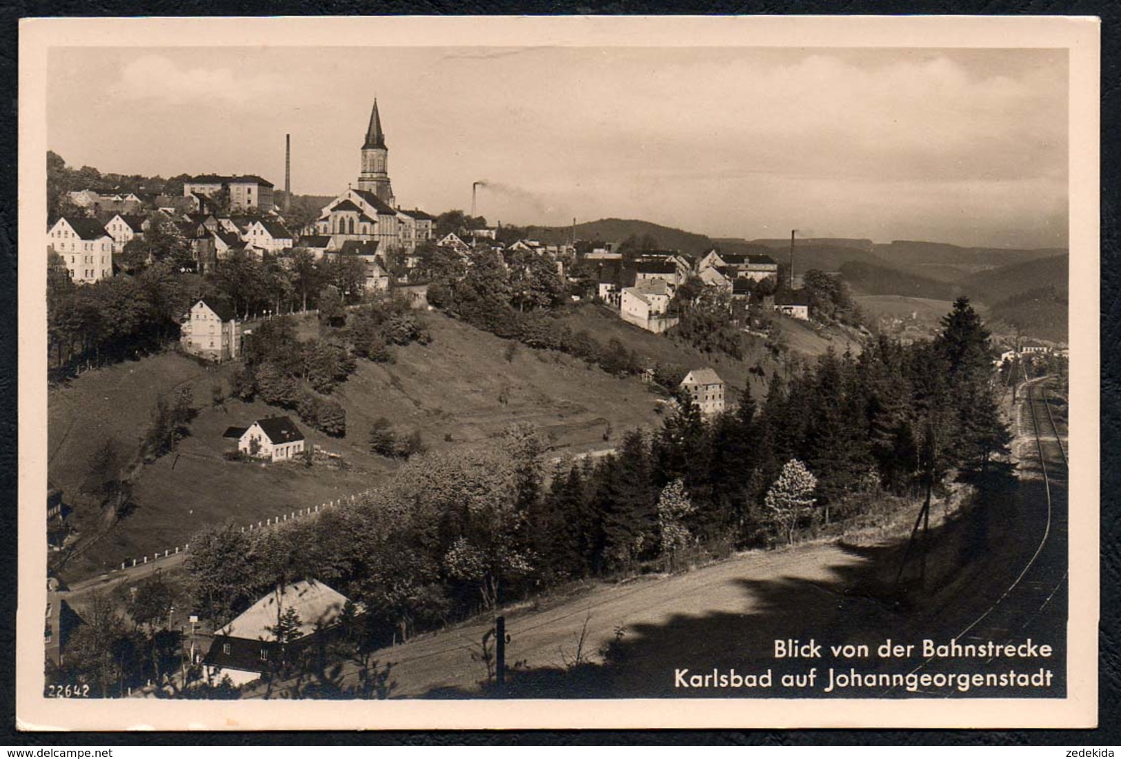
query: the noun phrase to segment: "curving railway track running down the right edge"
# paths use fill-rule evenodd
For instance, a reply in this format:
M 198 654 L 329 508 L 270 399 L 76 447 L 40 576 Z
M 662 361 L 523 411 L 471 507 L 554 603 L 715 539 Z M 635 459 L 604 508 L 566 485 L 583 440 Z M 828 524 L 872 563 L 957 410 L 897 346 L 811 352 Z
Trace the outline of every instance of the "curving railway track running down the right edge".
M 961 644 L 984 644 L 990 640 L 997 644 L 1022 643 L 1025 638 L 1031 637 L 1036 643 L 1054 646 L 1056 657 L 1043 662 L 1044 666 L 1056 671 L 1053 690 L 1009 690 L 1000 695 L 1055 697 L 1063 696 L 1066 692 L 1067 452 L 1055 422 L 1047 390 L 1049 381 L 1049 377 L 1040 377 L 1025 383 L 1025 407 L 1029 416 L 1026 427 L 1030 430 L 1034 451 L 1031 456 L 1025 455 L 1020 460 L 1020 499 L 1023 513 L 1017 526 L 1021 531 L 1021 537 L 1032 541 L 1035 547 L 1021 554 L 1020 561 L 1023 563 L 1019 573 L 1000 596 L 952 636 Z M 1032 665 L 1038 667 L 1040 663 L 1028 660 L 1012 664 L 1027 668 Z M 983 663 L 980 659 L 927 659 L 911 672 L 1007 668 L 1009 663 L 992 658 Z M 923 694 L 946 697 L 958 695 L 951 688 L 935 688 Z

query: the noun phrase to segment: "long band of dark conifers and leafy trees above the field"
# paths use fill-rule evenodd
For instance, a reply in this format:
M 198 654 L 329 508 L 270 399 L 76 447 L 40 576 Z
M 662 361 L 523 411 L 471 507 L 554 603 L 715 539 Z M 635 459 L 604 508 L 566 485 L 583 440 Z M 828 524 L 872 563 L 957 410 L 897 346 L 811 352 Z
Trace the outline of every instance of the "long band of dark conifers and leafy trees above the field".
M 578 578 L 679 566 L 691 553 L 793 540 L 1007 451 L 983 326 L 955 304 L 937 339 L 826 354 L 711 419 L 687 397 L 602 459 L 550 469 L 526 427 L 497 444 L 414 456 L 354 506 L 263 533 L 192 540 L 216 622 L 278 582 L 339 585 L 385 634 L 462 617 Z

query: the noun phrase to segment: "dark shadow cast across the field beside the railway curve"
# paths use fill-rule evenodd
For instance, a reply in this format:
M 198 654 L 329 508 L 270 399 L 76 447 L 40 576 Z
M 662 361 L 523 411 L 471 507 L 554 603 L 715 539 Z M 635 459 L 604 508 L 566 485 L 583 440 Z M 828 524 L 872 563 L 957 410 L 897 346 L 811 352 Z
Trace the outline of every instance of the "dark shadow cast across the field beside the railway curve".
M 963 620 L 988 608 L 1015 580 L 1023 553 L 1034 550 L 1036 541 L 1031 537 L 1035 526 L 1028 524 L 1032 522 L 1030 515 L 1017 514 L 1021 498 L 1017 498 L 1013 472 L 1008 467 L 994 467 L 973 484 L 983 488 L 979 497 L 944 521 L 937 519 L 938 526 L 930 528 L 925 580 L 920 579 L 919 546 L 912 546 L 900 577 L 909 534 L 877 545 L 840 541 L 844 552 L 862 561 L 830 565 L 825 568 L 825 579 L 819 581 L 791 577 L 732 580 L 743 593 L 742 613 L 680 615 L 665 624 L 632 625 L 599 652 L 596 662 L 567 667 L 513 667 L 507 672 L 503 690 L 490 685 L 481 695 L 507 699 L 921 695 L 904 688 L 890 693 L 882 687 L 832 693 L 823 688 L 831 667 L 861 673 L 911 671 L 924 660 L 920 649 L 914 649 L 910 656 L 881 658 L 876 655 L 877 648 L 889 638 L 893 644 L 920 644 L 924 638 L 946 643 L 958 634 Z M 1017 530 L 1022 530 L 1023 540 L 1010 540 Z M 1056 613 L 1065 618 L 1065 609 Z M 778 657 L 779 640 L 798 641 L 788 643 L 787 649 L 813 641 L 819 646 L 814 652 L 818 656 Z M 846 644 L 867 645 L 870 656 L 850 658 L 832 653 L 831 646 Z M 517 659 L 516 638 L 507 657 L 511 662 Z M 976 667 L 978 663 L 951 666 Z M 784 676 L 807 677 L 814 667 L 813 685 L 784 681 Z M 684 669 L 688 672 L 682 674 Z M 694 675 L 703 677 L 714 671 L 731 675 L 733 669 L 740 676 L 753 675 L 758 680 L 769 674 L 769 677 L 760 682 L 745 678 L 739 687 L 706 686 L 703 680 L 692 680 Z M 700 686 L 694 687 L 694 682 Z M 480 697 L 480 693 L 439 688 L 423 697 Z

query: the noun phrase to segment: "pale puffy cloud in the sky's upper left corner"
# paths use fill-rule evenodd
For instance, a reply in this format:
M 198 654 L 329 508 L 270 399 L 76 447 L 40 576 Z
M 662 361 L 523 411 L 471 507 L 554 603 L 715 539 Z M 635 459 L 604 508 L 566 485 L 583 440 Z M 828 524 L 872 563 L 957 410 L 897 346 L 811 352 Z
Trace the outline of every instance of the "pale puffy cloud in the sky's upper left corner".
M 223 105 L 259 105 L 261 96 L 280 91 L 272 74 L 238 74 L 232 68 L 185 67 L 160 55 L 145 55 L 121 68 L 112 94 L 132 101 L 185 105 L 219 101 Z

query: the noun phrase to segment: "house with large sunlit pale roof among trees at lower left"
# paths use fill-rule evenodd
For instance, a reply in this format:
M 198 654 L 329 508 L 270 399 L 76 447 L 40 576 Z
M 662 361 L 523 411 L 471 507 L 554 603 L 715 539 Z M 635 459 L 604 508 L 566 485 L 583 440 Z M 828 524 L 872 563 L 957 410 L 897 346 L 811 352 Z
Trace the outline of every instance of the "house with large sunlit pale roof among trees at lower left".
M 300 580 L 262 596 L 233 621 L 219 628 L 203 658 L 209 678 L 229 676 L 234 685 L 258 680 L 284 657 L 291 657 L 317 636 L 330 635 L 350 600 L 316 580 Z M 361 611 L 361 607 L 358 607 Z M 277 639 L 281 618 L 295 615 L 287 643 Z

